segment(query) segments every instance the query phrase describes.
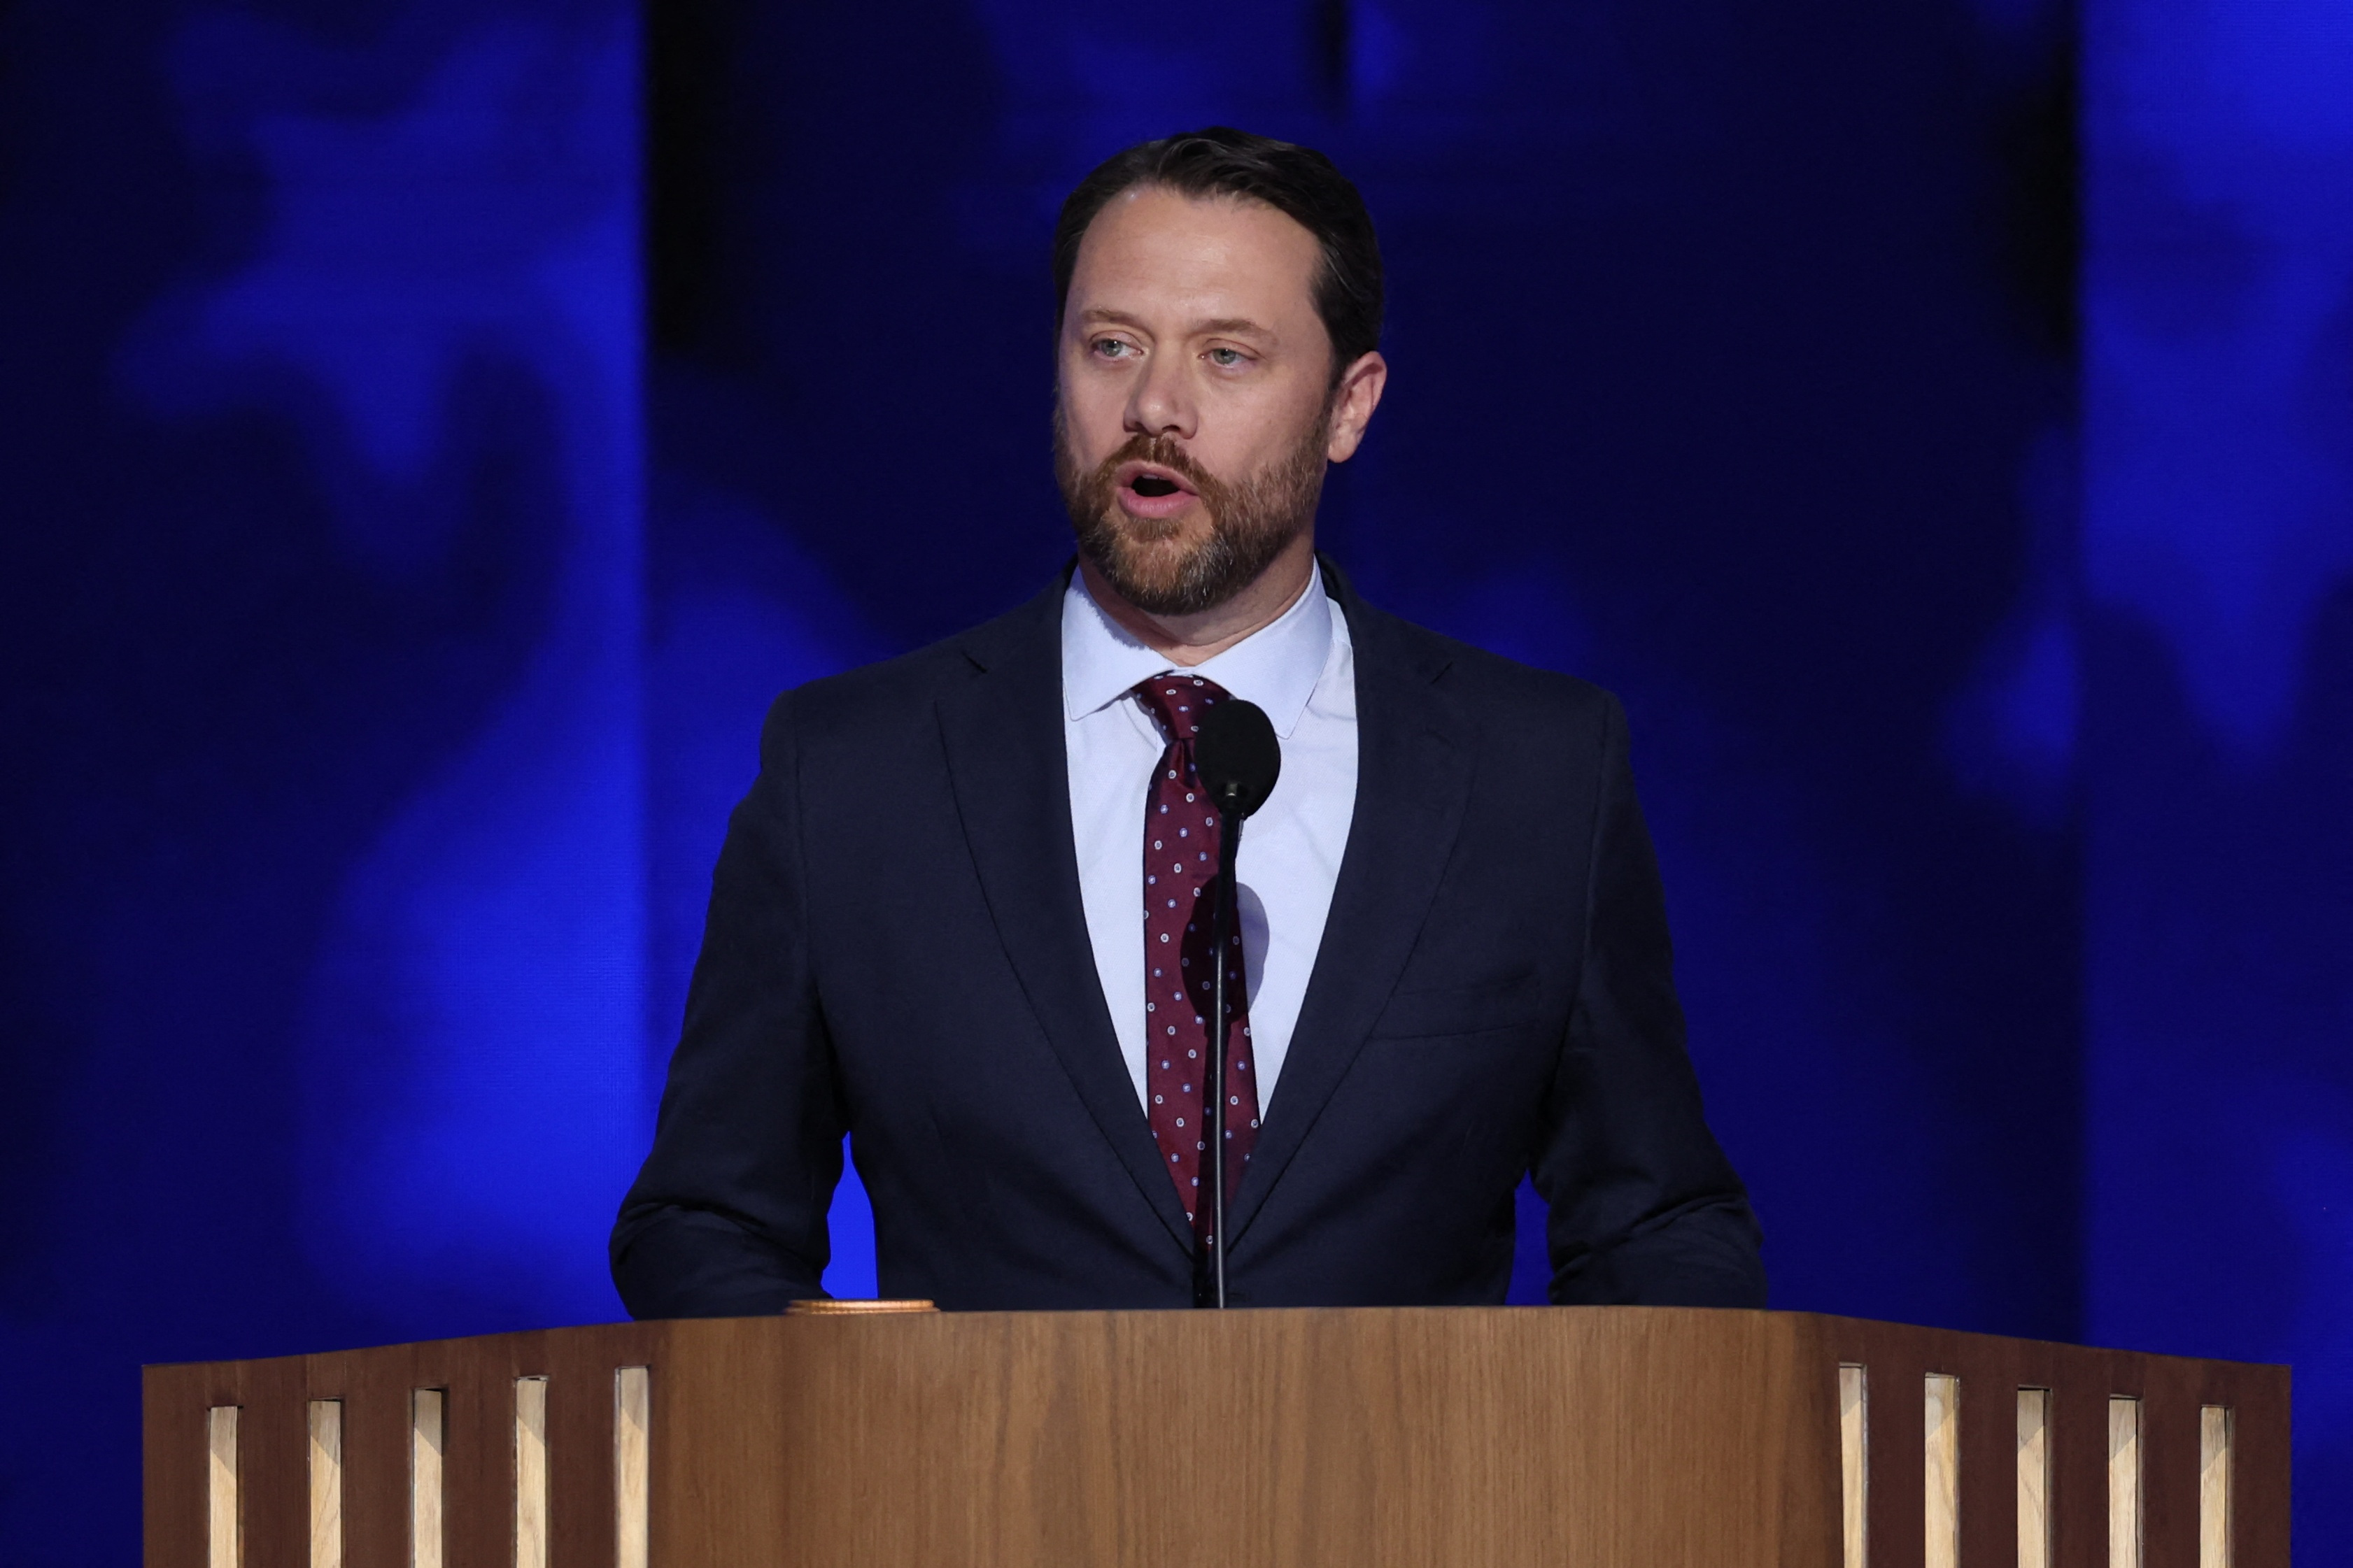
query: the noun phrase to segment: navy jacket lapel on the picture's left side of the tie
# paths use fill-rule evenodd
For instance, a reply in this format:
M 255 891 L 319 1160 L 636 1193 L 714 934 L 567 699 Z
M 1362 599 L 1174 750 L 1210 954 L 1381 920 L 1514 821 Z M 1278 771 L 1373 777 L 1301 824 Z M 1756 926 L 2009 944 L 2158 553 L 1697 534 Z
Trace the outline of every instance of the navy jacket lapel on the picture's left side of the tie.
M 974 675 L 939 701 L 939 731 L 965 844 L 1031 1011 L 1136 1190 L 1191 1253 L 1193 1227 L 1120 1060 L 1078 891 L 1061 717 L 1066 581 L 965 637 Z

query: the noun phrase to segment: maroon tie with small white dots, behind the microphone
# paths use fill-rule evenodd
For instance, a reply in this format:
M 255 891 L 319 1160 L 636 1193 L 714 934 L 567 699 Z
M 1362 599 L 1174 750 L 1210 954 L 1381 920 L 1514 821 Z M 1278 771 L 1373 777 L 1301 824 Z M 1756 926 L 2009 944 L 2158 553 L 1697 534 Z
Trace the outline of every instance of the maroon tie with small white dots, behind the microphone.
M 1153 1138 L 1176 1182 L 1193 1234 L 1209 1241 L 1209 957 L 1217 884 L 1217 806 L 1193 773 L 1200 715 L 1226 701 L 1217 682 L 1155 675 L 1136 686 L 1169 736 L 1144 799 L 1144 1086 Z M 1249 1001 L 1242 994 L 1242 922 L 1226 940 L 1226 1201 L 1259 1140 L 1259 1084 L 1249 1065 Z

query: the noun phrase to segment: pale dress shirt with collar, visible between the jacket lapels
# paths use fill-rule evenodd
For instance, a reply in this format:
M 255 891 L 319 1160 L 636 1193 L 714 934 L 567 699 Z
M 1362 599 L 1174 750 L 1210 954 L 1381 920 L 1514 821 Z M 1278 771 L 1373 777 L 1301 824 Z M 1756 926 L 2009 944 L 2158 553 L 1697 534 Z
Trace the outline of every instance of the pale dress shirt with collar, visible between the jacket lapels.
M 1111 1004 L 1136 1103 L 1144 1088 L 1144 804 L 1167 750 L 1160 724 L 1136 701 L 1136 682 L 1176 670 L 1129 637 L 1071 574 L 1061 602 L 1061 712 L 1071 764 L 1071 835 L 1087 905 L 1094 973 Z M 1332 912 L 1332 882 L 1355 818 L 1355 649 L 1348 618 L 1322 588 L 1306 592 L 1217 658 L 1186 675 L 1252 701 L 1282 738 L 1275 792 L 1242 830 L 1235 867 L 1249 1044 L 1266 1114 L 1292 1046 L 1308 971 Z

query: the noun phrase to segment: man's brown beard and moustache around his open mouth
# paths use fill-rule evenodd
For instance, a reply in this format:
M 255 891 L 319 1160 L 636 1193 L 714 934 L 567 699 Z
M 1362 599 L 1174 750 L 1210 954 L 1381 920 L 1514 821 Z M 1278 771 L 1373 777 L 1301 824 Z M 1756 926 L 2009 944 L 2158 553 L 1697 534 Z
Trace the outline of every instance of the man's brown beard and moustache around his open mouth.
M 1247 480 L 1228 484 L 1165 435 L 1134 435 L 1125 447 L 1080 470 L 1071 433 L 1054 407 L 1054 480 L 1071 510 L 1078 550 L 1111 588 L 1148 616 L 1198 616 L 1217 609 L 1259 581 L 1282 550 L 1315 522 L 1322 496 L 1325 451 L 1332 411 L 1315 428 Z M 1113 501 L 1120 463 L 1158 463 L 1200 496 L 1209 536 L 1184 550 L 1176 545 L 1184 517 L 1129 517 Z

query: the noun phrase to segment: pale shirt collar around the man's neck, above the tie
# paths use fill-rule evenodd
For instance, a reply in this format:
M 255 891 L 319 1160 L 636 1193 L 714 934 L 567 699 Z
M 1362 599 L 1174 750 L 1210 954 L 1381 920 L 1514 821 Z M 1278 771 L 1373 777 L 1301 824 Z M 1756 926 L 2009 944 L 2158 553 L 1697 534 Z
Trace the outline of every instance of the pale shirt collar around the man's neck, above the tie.
M 1275 733 L 1289 738 L 1322 679 L 1332 654 L 1332 597 L 1322 569 L 1308 574 L 1306 590 L 1273 623 L 1186 670 L 1214 679 L 1233 696 L 1266 710 Z M 1061 712 L 1078 722 L 1127 696 L 1136 682 L 1176 670 L 1165 654 L 1136 642 L 1087 592 L 1082 571 L 1071 574 L 1061 597 Z

